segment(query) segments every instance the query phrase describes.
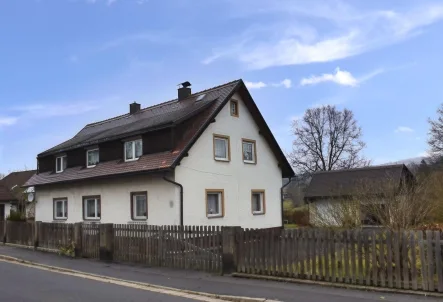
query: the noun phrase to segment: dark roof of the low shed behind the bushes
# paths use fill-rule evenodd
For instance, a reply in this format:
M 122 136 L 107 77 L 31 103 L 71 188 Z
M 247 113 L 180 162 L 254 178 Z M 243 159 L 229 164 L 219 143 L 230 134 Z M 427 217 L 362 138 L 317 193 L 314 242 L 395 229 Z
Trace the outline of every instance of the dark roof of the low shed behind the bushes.
M 404 173 L 412 175 L 405 165 L 317 172 L 312 176 L 306 189 L 305 199 L 351 196 L 361 185 L 370 185 L 371 188 L 374 188 L 371 189 L 373 193 L 381 193 L 379 191 L 387 181 L 398 181 L 400 184 Z

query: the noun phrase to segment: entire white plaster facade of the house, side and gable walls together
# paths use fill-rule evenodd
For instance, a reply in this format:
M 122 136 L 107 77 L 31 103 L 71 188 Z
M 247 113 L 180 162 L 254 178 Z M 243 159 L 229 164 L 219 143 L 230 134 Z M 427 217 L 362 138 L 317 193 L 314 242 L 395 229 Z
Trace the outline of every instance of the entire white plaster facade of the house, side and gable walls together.
M 216 116 L 169 178 L 184 188 L 184 225 L 225 225 L 247 228 L 281 226 L 282 171 L 267 141 L 239 95 L 239 116 L 230 114 L 230 102 Z M 230 161 L 214 159 L 213 135 L 229 136 Z M 242 139 L 255 140 L 256 164 L 243 162 Z M 224 216 L 208 218 L 206 190 L 224 191 Z M 251 191 L 265 192 L 265 213 L 253 215 Z M 68 199 L 66 222 L 83 221 L 83 196 L 100 195 L 101 223 L 130 223 L 131 192 L 147 191 L 148 219 L 152 225 L 180 223 L 179 188 L 161 176 L 133 176 L 81 183 L 36 187 L 36 221 L 54 221 L 53 199 Z

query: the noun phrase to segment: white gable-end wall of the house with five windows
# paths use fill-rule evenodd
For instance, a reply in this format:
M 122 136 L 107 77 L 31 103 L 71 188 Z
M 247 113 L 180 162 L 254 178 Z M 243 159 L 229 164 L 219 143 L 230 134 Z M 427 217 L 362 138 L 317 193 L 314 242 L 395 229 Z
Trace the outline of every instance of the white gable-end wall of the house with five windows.
M 281 169 L 240 96 L 233 98 L 239 101 L 239 117 L 230 115 L 228 102 L 175 168 L 175 179 L 184 187 L 184 224 L 281 226 Z M 214 160 L 213 134 L 230 137 L 230 162 Z M 243 163 L 242 138 L 256 140 L 257 164 Z M 224 190 L 224 217 L 207 218 L 205 189 Z M 252 189 L 265 190 L 265 215 L 252 214 Z

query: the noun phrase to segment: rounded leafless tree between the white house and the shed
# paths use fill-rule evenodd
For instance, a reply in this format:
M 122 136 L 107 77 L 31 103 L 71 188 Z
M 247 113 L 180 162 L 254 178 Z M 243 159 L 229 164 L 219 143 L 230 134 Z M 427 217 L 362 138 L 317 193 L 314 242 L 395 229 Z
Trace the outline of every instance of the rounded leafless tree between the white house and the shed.
M 369 165 L 362 155 L 362 130 L 352 111 L 322 106 L 306 110 L 292 125 L 295 136 L 289 154 L 295 170 L 304 175 L 316 171 L 349 169 Z

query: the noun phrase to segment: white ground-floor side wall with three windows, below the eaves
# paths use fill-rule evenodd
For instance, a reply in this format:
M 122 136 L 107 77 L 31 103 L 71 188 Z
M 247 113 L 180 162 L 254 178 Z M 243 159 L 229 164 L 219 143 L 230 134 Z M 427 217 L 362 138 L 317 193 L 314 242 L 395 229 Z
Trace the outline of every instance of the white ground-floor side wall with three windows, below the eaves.
M 171 176 L 173 179 L 173 176 Z M 101 223 L 130 223 L 131 192 L 148 192 L 148 224 L 179 223 L 179 191 L 161 176 L 127 176 L 107 180 L 36 187 L 36 221 L 53 221 L 53 198 L 68 198 L 66 222 L 83 221 L 82 197 L 101 196 Z

